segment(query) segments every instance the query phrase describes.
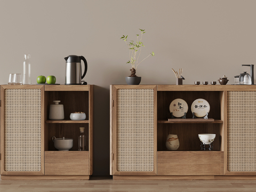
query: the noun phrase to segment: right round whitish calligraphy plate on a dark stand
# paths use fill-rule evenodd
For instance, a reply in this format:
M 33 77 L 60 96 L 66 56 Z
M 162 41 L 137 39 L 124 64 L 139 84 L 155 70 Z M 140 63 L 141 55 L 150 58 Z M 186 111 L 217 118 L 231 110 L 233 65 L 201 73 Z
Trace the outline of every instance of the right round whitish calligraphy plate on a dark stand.
M 210 111 L 210 104 L 205 99 L 196 99 L 191 105 L 191 112 L 196 117 L 204 117 Z

